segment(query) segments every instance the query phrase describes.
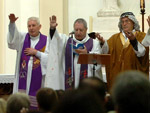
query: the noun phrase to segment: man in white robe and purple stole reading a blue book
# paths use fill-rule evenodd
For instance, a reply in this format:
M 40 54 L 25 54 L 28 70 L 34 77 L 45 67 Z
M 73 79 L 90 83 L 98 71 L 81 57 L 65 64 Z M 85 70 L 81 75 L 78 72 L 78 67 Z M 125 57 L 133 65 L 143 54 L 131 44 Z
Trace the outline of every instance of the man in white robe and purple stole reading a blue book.
M 74 22 L 72 38 L 59 34 L 56 26 L 56 16 L 52 16 L 50 18 L 50 37 L 53 37 L 53 41 L 49 48 L 45 86 L 58 90 L 76 88 L 80 80 L 93 76 L 92 64 L 77 63 L 79 54 L 107 53 L 105 41 L 102 40 L 103 46 L 101 47 L 99 41 L 88 36 L 87 23 L 83 18 Z M 73 54 L 71 46 L 74 46 Z M 101 65 L 96 66 L 95 76 L 102 79 Z

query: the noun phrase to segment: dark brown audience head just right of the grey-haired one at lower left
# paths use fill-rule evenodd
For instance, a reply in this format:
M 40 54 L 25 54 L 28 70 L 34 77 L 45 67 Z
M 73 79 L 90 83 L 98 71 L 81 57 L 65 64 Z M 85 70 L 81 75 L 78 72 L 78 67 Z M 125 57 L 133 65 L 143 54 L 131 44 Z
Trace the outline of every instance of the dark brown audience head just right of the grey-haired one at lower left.
M 37 91 L 36 99 L 39 109 L 45 112 L 52 111 L 58 102 L 56 92 L 51 88 L 41 88 Z

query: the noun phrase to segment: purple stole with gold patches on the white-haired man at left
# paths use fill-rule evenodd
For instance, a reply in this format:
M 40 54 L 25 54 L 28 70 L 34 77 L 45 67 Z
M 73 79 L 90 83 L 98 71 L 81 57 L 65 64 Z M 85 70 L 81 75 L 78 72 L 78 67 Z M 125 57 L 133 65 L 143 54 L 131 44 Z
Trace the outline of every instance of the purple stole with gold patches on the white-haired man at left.
M 47 42 L 47 37 L 45 35 L 40 34 L 39 42 L 36 44 L 35 49 L 41 52 L 45 51 Z M 31 41 L 30 41 L 30 35 L 27 33 L 22 53 L 21 53 L 21 59 L 20 59 L 20 69 L 19 69 L 19 91 L 20 92 L 26 92 L 26 85 L 27 85 L 27 72 L 28 72 L 28 62 L 30 59 L 30 56 L 25 55 L 24 50 L 26 48 L 30 48 Z M 31 100 L 31 106 L 33 104 L 36 104 L 36 92 L 38 89 L 41 88 L 42 83 L 42 72 L 41 72 L 41 65 L 40 65 L 40 59 L 33 56 L 33 66 L 32 66 L 32 75 L 31 75 L 31 83 L 29 88 L 29 96 Z M 32 103 L 33 102 L 33 103 Z M 36 106 L 35 106 L 36 107 Z

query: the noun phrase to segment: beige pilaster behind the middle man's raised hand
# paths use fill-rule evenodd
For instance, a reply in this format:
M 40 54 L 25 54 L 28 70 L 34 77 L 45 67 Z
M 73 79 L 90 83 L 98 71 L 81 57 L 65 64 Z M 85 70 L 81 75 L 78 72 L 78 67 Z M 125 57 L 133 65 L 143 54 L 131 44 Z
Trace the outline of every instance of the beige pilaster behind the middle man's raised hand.
M 65 0 L 66 2 L 67 0 Z M 49 34 L 49 17 L 52 15 L 57 16 L 57 30 L 59 32 L 63 32 L 63 20 L 64 12 L 63 12 L 63 2 L 64 0 L 40 0 L 40 20 L 42 24 L 41 32 L 45 35 Z

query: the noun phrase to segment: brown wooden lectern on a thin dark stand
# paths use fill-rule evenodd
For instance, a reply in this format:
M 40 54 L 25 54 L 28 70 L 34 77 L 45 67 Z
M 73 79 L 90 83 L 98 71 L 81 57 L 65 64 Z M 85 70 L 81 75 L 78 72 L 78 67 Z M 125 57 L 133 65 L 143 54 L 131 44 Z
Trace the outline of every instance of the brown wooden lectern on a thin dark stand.
M 97 64 L 109 65 L 110 54 L 80 54 L 78 64 L 93 64 L 93 76 L 95 76 L 95 66 Z

